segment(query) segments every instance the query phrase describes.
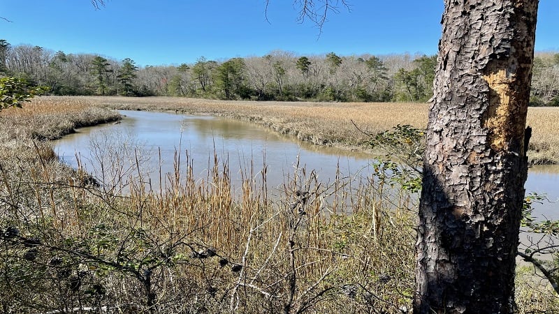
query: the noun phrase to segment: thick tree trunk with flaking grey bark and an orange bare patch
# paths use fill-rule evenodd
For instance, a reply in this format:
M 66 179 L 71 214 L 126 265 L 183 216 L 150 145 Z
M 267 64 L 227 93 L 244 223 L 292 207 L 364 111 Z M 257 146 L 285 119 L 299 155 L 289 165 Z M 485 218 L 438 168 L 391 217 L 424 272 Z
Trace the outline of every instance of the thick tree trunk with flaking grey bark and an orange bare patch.
M 414 313 L 511 313 L 537 0 L 444 0 Z

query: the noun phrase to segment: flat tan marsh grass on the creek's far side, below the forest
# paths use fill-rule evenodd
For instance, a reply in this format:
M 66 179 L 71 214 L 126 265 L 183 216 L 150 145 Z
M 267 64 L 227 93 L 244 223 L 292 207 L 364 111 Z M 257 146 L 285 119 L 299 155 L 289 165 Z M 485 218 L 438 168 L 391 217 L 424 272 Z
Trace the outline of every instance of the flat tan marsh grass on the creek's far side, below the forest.
M 75 101 L 76 98 L 46 98 Z M 346 149 L 368 149 L 367 133 L 389 130 L 400 124 L 425 128 L 428 105 L 412 103 L 283 103 L 205 100 L 194 98 L 84 97 L 112 109 L 157 110 L 187 114 L 211 114 L 254 121 L 279 133 L 296 135 L 314 144 Z M 559 108 L 530 107 L 528 126 L 532 139 L 528 156 L 532 164 L 559 163 Z

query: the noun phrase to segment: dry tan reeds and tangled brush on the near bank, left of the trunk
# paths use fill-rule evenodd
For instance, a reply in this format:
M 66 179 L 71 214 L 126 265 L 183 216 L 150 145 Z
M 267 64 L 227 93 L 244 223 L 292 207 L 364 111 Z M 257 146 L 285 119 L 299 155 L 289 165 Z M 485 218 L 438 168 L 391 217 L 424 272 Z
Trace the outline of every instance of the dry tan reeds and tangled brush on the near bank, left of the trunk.
M 314 172 L 298 169 L 282 197 L 270 200 L 255 186 L 254 173 L 245 173 L 240 194 L 232 194 L 227 164 L 217 158 L 207 179 L 194 179 L 191 166 L 184 174 L 180 169 L 177 163 L 175 172 L 162 174 L 166 185 L 158 191 L 147 190 L 143 174 L 137 174 L 128 180 L 127 195 L 61 181 L 50 165 L 30 177 L 24 172 L 3 179 L 6 186 L 18 182 L 9 199 L 32 195 L 33 202 L 15 201 L 17 212 L 6 223 L 24 236 L 0 253 L 30 269 L 28 276 L 40 283 L 38 290 L 21 293 L 29 283 L 8 281 L 1 283 L 4 293 L 20 293 L 20 304 L 42 308 L 60 308 L 61 302 L 78 306 L 80 300 L 134 304 L 157 313 L 191 307 L 215 313 L 256 313 L 263 307 L 275 313 L 286 306 L 290 312 L 394 312 L 409 306 L 411 299 L 401 293 L 412 293 L 412 215 L 390 225 L 390 209 L 373 214 L 370 204 L 379 203 L 368 192 L 373 187 L 352 190 L 341 180 L 326 186 Z M 334 195 L 351 202 L 333 209 Z M 346 214 L 334 215 L 336 210 Z M 37 257 L 30 257 L 24 244 L 31 239 L 41 243 Z M 57 258 L 61 264 L 55 266 L 42 262 Z M 57 269 L 71 275 L 56 281 L 45 276 Z M 76 276 L 87 278 L 83 291 L 102 287 L 102 298 L 78 298 L 79 289 L 50 297 L 49 291 L 71 286 Z M 36 294 L 41 301 L 33 299 Z

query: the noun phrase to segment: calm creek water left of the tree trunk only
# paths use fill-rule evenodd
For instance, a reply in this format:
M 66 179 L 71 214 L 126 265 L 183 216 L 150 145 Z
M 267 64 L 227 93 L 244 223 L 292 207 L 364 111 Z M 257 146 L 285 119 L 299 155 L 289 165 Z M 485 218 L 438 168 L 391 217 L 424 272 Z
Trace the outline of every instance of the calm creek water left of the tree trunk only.
M 163 173 L 173 172 L 175 151 L 180 151 L 183 163 L 184 156 L 188 155 L 196 177 L 200 178 L 208 177 L 216 154 L 220 164 L 228 163 L 234 188 L 240 186 L 240 172 L 246 174 L 252 168 L 252 175 L 258 177 L 256 174 L 263 170 L 264 165 L 268 168 L 268 186 L 277 187 L 284 183 L 285 174 L 293 172 L 296 163 L 317 170 L 319 179 L 327 182 L 336 177 L 338 168 L 342 177 L 367 172 L 371 158 L 359 152 L 298 142 L 294 137 L 278 135 L 263 126 L 234 119 L 161 112 L 120 113 L 126 116 L 120 124 L 82 128 L 78 133 L 57 140 L 55 151 L 74 167 L 78 165 L 75 155 L 79 153 L 86 161 L 87 170 L 93 172 L 95 167 L 99 167 L 100 158 L 96 156 L 99 152 L 92 151 L 91 139 L 101 135 L 103 141 L 106 138 L 104 134 L 108 133 L 122 138 L 123 142 L 137 143 L 143 157 L 147 154 L 151 156 L 150 163 L 143 167 L 150 173 L 154 189 L 160 184 L 159 167 Z M 101 143 L 93 146 L 99 147 Z M 182 167 L 184 170 L 185 167 Z M 164 184 L 161 182 L 161 185 Z

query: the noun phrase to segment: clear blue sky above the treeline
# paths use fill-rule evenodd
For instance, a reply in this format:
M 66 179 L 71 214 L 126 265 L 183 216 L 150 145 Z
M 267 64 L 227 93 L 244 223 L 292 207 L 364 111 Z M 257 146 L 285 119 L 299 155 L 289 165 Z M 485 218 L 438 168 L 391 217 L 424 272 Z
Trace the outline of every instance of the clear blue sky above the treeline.
M 442 0 L 348 0 L 322 33 L 297 22 L 293 0 L 0 0 L 0 39 L 66 53 L 131 58 L 140 66 L 263 56 L 435 54 Z M 559 0 L 541 0 L 536 50 L 559 50 Z

